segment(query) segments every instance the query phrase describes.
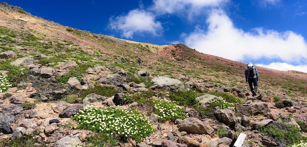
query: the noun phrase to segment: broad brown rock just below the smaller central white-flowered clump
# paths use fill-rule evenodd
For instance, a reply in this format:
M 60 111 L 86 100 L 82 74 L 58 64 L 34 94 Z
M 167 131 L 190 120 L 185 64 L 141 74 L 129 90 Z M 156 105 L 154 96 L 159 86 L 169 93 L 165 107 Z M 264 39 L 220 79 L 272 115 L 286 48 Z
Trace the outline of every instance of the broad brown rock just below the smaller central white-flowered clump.
M 178 124 L 179 131 L 186 131 L 192 134 L 212 134 L 214 129 L 197 118 L 186 118 Z

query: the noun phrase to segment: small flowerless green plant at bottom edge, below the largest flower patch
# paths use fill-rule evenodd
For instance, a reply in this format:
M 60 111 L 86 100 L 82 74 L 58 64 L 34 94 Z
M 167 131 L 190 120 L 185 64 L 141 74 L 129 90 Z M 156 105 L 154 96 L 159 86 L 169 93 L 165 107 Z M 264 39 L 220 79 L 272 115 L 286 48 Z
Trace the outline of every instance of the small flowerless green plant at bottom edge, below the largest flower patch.
M 86 140 L 86 147 L 115 147 L 119 143 L 118 139 L 106 133 L 97 133 Z

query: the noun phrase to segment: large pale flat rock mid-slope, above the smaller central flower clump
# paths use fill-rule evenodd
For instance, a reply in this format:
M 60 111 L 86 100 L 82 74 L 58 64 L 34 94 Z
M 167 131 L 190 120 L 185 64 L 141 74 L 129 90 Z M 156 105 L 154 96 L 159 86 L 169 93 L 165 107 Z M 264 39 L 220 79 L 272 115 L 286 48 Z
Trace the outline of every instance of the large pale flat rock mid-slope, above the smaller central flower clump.
M 154 82 L 154 85 L 152 86 L 153 89 L 164 88 L 171 91 L 182 91 L 185 89 L 183 83 L 180 80 L 174 78 L 157 76 L 153 78 L 151 81 Z

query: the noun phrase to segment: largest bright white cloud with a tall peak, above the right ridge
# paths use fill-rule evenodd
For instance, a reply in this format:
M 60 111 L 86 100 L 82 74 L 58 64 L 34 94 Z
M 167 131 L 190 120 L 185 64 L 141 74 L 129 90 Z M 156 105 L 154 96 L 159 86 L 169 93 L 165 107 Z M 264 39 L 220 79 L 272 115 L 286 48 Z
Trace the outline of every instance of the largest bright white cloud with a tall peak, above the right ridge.
M 254 28 L 245 32 L 236 28 L 223 10 L 212 11 L 206 22 L 206 31 L 196 26 L 194 32 L 183 38 L 187 46 L 236 61 L 265 57 L 288 63 L 306 62 L 307 43 L 292 31 Z

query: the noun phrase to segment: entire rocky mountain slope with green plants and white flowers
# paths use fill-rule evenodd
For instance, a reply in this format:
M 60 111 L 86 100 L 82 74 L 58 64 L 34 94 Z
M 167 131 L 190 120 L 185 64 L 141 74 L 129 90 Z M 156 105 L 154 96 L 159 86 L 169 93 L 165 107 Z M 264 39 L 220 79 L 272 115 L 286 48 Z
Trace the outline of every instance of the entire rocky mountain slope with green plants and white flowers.
M 245 66 L 0 3 L 0 147 L 229 147 L 240 133 L 244 147 L 306 142 L 307 74 L 257 67 L 252 97 Z

